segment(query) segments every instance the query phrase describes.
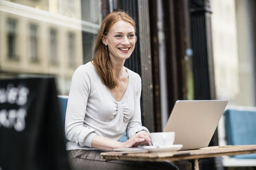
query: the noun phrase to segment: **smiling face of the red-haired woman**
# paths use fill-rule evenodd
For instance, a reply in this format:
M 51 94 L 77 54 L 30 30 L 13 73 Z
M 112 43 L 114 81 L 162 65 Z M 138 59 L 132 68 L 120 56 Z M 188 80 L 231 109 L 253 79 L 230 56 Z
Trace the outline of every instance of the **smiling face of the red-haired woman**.
M 107 44 L 112 60 L 129 58 L 136 43 L 134 27 L 125 21 L 117 21 L 109 29 L 107 36 L 103 36 L 103 43 Z

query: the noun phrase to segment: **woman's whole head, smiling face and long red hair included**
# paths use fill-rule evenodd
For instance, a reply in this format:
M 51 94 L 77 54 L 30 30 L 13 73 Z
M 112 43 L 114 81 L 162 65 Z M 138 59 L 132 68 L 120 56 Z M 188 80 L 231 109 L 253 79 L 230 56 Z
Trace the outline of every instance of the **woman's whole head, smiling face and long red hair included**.
M 125 63 L 125 59 L 134 51 L 135 34 L 134 20 L 125 12 L 112 12 L 103 20 L 92 61 L 101 80 L 110 89 L 118 85 L 111 62 L 122 65 Z

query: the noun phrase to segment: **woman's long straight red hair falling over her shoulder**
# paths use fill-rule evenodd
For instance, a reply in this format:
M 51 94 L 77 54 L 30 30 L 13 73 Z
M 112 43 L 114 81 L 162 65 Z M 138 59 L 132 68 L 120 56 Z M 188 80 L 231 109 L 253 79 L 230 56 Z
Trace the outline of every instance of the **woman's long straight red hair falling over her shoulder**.
M 107 36 L 109 29 L 116 23 L 116 21 L 120 20 L 130 23 L 134 27 L 134 30 L 136 30 L 135 22 L 129 14 L 123 11 L 111 12 L 105 17 L 100 26 L 94 48 L 94 58 L 92 58 L 92 63 L 100 75 L 100 79 L 109 89 L 118 86 L 118 82 L 112 69 L 108 48 L 103 44 L 102 38 L 103 36 Z

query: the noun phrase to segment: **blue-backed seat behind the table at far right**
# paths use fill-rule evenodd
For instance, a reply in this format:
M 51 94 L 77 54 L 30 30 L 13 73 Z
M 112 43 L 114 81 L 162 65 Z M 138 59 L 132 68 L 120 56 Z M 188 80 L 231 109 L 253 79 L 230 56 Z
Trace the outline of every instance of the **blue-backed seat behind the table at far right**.
M 228 108 L 223 118 L 224 136 L 220 138 L 224 139 L 224 145 L 256 144 L 256 108 Z M 226 156 L 222 162 L 224 167 L 256 167 L 256 154 Z

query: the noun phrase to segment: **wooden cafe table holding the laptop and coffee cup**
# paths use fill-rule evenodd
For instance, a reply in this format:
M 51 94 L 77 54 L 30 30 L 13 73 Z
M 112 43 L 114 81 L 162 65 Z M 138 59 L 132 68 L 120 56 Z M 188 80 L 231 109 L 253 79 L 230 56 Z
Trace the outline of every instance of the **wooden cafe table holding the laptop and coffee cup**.
M 239 154 L 255 154 L 256 145 L 226 145 L 204 147 L 200 149 L 160 152 L 129 152 L 111 151 L 103 152 L 100 156 L 103 160 L 137 160 L 137 161 L 175 161 L 193 160 L 191 169 L 199 169 L 199 160 L 202 158 L 213 158 L 218 156 L 231 156 Z

